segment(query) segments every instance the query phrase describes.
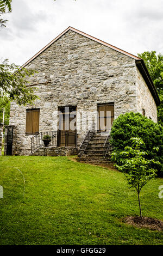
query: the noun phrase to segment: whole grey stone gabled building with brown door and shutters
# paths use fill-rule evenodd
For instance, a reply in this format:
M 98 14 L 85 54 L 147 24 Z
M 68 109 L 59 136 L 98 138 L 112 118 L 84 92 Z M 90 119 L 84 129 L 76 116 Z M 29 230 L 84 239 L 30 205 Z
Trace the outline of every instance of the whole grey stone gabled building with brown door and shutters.
M 87 131 L 108 132 L 121 113 L 140 112 L 157 122 L 160 101 L 143 60 L 77 29 L 68 27 L 23 67 L 37 71 L 28 86 L 40 99 L 26 107 L 11 103 L 14 155 L 38 148 L 66 154 L 63 149 L 79 147 Z M 48 148 L 42 148 L 45 135 Z

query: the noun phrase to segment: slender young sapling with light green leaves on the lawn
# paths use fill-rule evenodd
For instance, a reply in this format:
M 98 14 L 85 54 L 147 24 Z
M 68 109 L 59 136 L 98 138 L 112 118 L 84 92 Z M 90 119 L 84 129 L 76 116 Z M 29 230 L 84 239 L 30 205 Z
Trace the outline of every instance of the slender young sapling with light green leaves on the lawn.
M 131 147 L 127 146 L 124 148 L 124 151 L 118 153 L 123 159 L 122 166 L 118 166 L 118 164 L 115 164 L 115 166 L 118 168 L 118 170 L 121 170 L 121 172 L 128 173 L 126 174 L 126 178 L 129 186 L 134 188 L 134 190 L 137 192 L 140 218 L 142 220 L 140 192 L 142 187 L 156 176 L 156 169 L 152 168 L 153 164 L 160 164 L 160 162 L 155 162 L 153 159 L 145 159 L 147 152 L 140 150 L 141 146 L 144 144 L 141 138 L 132 137 L 130 138 L 130 141 Z M 154 150 L 159 149 L 155 148 Z M 117 153 L 111 154 L 111 159 L 115 162 L 117 157 L 120 157 L 117 155 Z

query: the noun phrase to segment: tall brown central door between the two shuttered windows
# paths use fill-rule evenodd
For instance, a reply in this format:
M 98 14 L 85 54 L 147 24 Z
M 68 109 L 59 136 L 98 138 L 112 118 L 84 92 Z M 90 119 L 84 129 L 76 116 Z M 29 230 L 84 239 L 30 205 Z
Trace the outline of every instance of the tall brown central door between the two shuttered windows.
M 76 107 L 59 108 L 58 145 L 76 146 Z

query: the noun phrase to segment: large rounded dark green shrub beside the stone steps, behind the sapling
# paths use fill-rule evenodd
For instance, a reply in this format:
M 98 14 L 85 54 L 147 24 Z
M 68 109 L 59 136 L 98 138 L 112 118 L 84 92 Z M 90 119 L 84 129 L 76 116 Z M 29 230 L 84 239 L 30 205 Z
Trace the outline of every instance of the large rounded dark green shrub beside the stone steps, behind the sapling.
M 145 144 L 141 145 L 143 151 L 147 151 L 147 159 L 154 159 L 161 162 L 160 166 L 153 166 L 158 169 L 158 176 L 163 176 L 163 127 L 154 123 L 151 119 L 143 117 L 140 113 L 121 114 L 114 120 L 111 129 L 111 144 L 114 147 L 114 152 L 117 154 L 130 146 L 131 137 L 140 137 Z M 153 150 L 158 148 L 159 150 Z M 116 163 L 123 164 L 121 155 L 118 154 Z M 151 167 L 152 168 L 152 167 Z

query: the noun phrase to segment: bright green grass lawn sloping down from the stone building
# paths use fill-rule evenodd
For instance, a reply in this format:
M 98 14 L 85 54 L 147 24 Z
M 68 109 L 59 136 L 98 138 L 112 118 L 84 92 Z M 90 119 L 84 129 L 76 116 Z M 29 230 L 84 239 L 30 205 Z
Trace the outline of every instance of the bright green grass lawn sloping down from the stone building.
M 6 166 L 6 167 L 3 167 Z M 23 197 L 23 176 L 26 180 Z M 162 245 L 160 231 L 121 222 L 139 215 L 136 193 L 124 174 L 67 157 L 0 157 L 1 245 Z M 163 199 L 149 182 L 141 193 L 143 216 L 163 219 Z

